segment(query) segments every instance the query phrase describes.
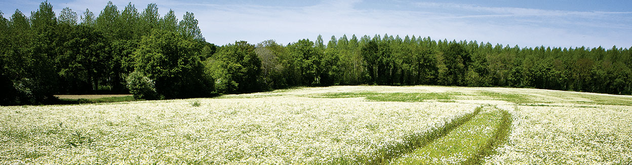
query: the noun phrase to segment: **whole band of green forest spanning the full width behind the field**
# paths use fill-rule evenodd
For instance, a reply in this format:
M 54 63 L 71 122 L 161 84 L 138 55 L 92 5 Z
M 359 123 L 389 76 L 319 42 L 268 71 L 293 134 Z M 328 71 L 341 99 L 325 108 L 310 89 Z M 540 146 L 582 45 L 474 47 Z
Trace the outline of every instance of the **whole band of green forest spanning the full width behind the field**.
M 54 94 L 173 99 L 296 86 L 457 85 L 631 94 L 632 47 L 519 47 L 430 37 L 334 36 L 206 42 L 193 13 L 111 2 L 95 15 L 41 3 L 30 17 L 0 13 L 1 104 Z

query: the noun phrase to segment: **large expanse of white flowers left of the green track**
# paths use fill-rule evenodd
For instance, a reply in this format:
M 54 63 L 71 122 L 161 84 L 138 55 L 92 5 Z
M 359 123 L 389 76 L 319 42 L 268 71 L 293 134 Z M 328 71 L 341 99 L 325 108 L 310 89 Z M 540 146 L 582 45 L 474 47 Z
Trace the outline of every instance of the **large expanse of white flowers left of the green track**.
M 288 95 L 1 107 L 0 164 L 353 162 L 477 106 Z

